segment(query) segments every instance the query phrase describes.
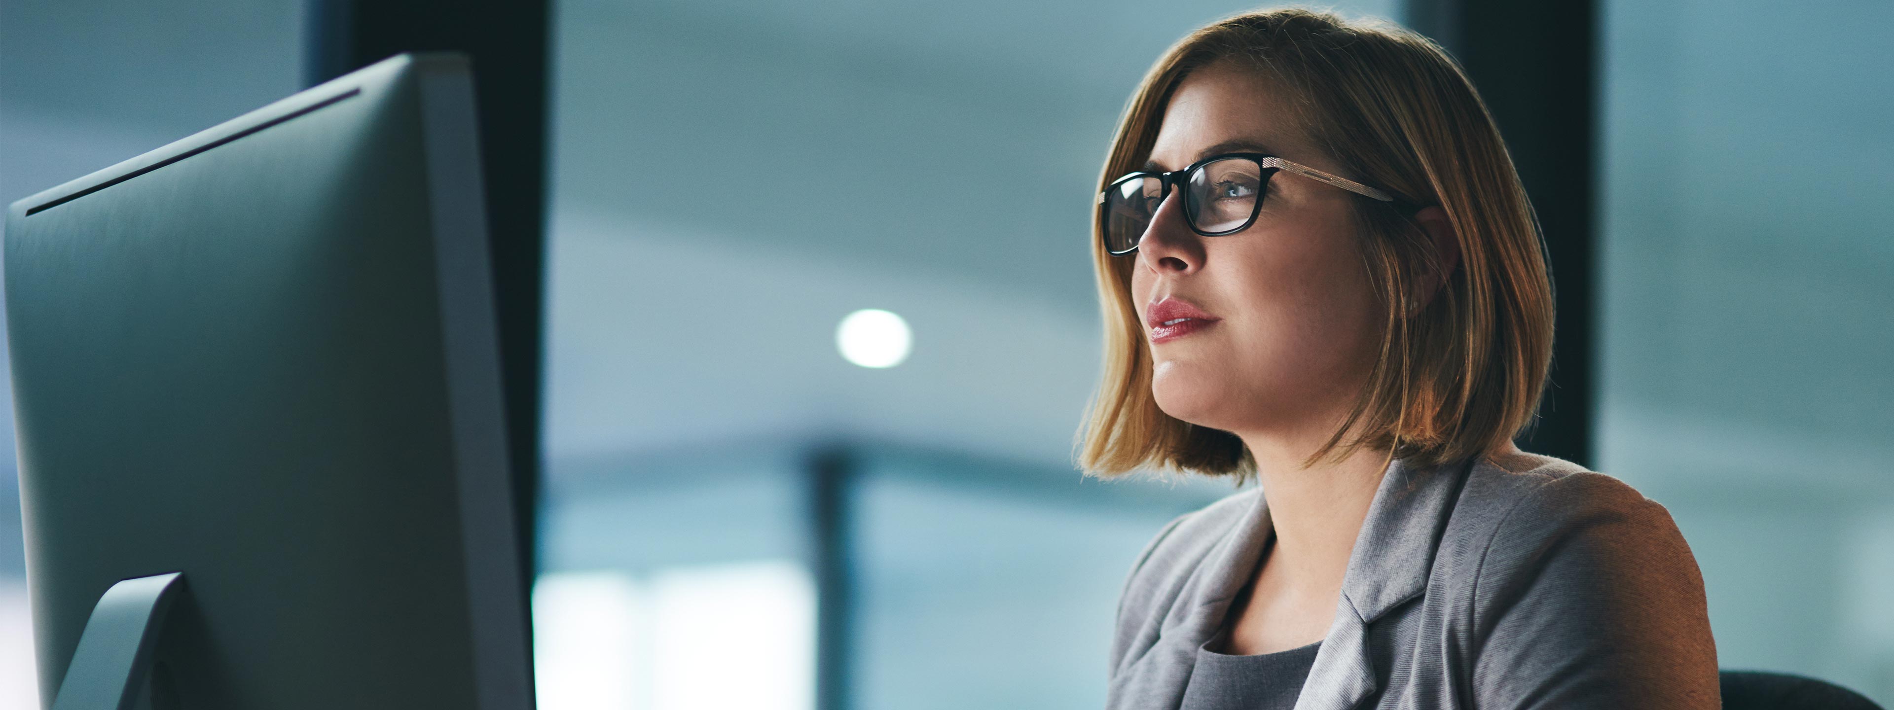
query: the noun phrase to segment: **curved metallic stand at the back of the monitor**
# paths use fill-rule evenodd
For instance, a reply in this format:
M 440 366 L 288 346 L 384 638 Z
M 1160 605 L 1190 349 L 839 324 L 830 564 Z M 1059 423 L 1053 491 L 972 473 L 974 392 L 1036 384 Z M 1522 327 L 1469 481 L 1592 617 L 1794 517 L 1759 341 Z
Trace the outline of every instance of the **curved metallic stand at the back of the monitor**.
M 150 706 L 152 648 L 180 587 L 184 572 L 125 579 L 106 589 L 80 632 L 53 710 Z

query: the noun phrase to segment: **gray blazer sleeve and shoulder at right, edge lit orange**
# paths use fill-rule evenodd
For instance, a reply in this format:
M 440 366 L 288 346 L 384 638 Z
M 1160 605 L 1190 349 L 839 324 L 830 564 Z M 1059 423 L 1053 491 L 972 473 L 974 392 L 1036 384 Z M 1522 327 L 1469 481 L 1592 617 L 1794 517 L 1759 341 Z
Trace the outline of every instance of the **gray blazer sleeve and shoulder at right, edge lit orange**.
M 1441 540 L 1491 706 L 1714 708 L 1703 576 L 1671 513 L 1572 462 L 1477 462 Z

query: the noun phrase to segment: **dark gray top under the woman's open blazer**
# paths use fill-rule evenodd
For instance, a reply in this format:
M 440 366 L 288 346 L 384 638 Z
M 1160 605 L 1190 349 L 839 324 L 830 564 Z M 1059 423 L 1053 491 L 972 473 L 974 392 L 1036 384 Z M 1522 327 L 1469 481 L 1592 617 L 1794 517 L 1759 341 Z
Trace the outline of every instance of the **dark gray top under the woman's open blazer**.
M 1197 666 L 1184 687 L 1184 710 L 1290 710 L 1301 693 L 1322 642 L 1277 653 L 1225 655 L 1227 634 L 1197 649 Z

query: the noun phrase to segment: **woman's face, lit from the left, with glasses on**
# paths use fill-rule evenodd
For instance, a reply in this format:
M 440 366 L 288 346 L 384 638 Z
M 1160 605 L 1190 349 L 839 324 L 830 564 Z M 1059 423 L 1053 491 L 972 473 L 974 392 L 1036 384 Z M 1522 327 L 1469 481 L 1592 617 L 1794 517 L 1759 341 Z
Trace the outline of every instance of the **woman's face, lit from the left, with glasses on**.
M 1229 62 L 1193 72 L 1165 110 L 1148 169 L 1256 151 L 1339 174 L 1280 97 L 1263 76 Z M 1197 237 L 1180 191 L 1170 191 L 1131 271 L 1159 409 L 1244 437 L 1333 434 L 1373 365 L 1385 318 L 1362 263 L 1352 199 L 1277 172 L 1256 223 Z M 1201 318 L 1165 326 L 1193 314 Z

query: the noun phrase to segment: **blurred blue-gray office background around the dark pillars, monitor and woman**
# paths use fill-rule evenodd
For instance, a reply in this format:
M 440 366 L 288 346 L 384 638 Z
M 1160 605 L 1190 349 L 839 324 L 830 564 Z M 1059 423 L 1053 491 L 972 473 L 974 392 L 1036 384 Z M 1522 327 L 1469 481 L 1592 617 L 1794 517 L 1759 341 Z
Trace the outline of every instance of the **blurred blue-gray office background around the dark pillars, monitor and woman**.
M 553 2 L 542 708 L 1099 706 L 1123 574 L 1229 487 L 1072 470 L 1091 186 L 1144 68 L 1244 8 Z M 1894 6 L 1597 11 L 1587 464 L 1672 511 L 1725 668 L 1894 704 Z M 0 203 L 301 89 L 305 25 L 0 0 Z M 862 309 L 903 362 L 837 352 Z

